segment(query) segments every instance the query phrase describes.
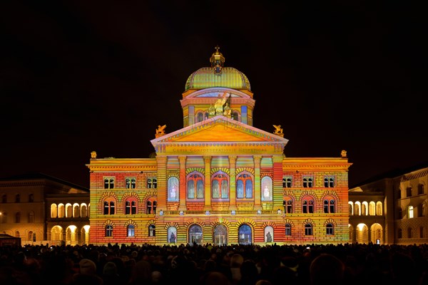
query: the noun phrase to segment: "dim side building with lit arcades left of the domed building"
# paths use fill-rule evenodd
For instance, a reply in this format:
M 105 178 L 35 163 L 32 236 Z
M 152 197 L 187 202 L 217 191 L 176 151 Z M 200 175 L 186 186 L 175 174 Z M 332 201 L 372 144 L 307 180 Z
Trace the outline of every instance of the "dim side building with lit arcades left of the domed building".
M 21 244 L 88 244 L 89 190 L 30 173 L 0 179 L 0 233 Z

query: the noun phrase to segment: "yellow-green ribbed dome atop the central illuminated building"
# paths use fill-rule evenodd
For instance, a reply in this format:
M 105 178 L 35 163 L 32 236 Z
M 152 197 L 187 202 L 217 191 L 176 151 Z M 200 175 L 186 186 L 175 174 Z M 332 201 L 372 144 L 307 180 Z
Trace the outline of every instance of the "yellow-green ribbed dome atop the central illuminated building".
M 233 67 L 223 67 L 220 73 L 216 73 L 212 67 L 199 68 L 185 82 L 186 91 L 211 87 L 251 90 L 247 76 Z

